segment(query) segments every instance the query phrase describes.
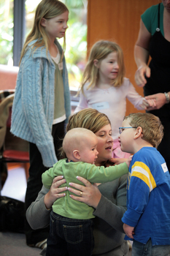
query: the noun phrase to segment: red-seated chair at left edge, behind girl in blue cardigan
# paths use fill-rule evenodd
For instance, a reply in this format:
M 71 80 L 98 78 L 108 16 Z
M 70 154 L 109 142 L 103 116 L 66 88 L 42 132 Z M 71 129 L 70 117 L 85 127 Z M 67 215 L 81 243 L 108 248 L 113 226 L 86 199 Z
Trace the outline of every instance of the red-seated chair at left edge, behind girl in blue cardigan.
M 7 178 L 7 163 L 22 163 L 28 178 L 28 142 L 10 132 L 14 93 L 15 90 L 0 91 L 0 192 Z

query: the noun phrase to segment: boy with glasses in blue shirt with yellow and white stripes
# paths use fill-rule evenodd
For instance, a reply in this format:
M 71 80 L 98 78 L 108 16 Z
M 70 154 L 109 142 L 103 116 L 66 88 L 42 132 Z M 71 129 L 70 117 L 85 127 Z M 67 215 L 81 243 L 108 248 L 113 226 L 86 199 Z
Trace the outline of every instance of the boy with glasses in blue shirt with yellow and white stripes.
M 151 113 L 132 113 L 122 126 L 121 149 L 134 154 L 122 218 L 125 240 L 134 240 L 132 256 L 169 255 L 170 175 L 156 149 L 163 138 L 163 125 Z

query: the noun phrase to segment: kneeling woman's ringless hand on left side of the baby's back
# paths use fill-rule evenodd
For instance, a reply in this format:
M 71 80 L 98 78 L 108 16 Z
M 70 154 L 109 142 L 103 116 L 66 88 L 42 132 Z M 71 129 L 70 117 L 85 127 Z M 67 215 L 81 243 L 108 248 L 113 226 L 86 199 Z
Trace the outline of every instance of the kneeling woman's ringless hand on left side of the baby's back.
M 45 206 L 47 209 L 50 209 L 53 206 L 55 200 L 66 195 L 65 193 L 60 194 L 67 190 L 67 187 L 60 187 L 64 183 L 66 183 L 66 180 L 63 176 L 57 176 L 53 179 L 53 184 L 51 185 L 49 192 L 45 195 Z

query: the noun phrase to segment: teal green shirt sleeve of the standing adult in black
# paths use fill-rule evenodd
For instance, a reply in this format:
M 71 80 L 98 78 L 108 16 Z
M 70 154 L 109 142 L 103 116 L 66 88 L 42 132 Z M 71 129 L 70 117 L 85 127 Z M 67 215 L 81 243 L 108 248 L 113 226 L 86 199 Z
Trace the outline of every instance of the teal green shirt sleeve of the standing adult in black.
M 160 5 L 160 30 L 161 34 L 164 37 L 163 32 L 163 3 Z M 142 15 L 142 21 L 144 26 L 150 32 L 150 34 L 155 34 L 156 29 L 158 28 L 158 4 L 152 5 L 152 7 L 148 8 Z

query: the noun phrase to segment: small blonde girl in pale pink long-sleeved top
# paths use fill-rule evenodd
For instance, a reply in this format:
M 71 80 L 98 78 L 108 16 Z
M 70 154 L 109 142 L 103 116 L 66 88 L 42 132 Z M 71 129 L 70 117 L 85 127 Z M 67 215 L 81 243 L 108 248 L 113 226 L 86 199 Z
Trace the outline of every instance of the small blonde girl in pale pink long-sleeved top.
M 113 157 L 126 158 L 120 149 L 119 127 L 126 111 L 126 99 L 135 108 L 144 110 L 151 103 L 140 96 L 128 78 L 125 78 L 123 50 L 115 42 L 100 40 L 90 50 L 88 63 L 82 75 L 80 102 L 75 112 L 94 108 L 105 113 L 112 125 Z

